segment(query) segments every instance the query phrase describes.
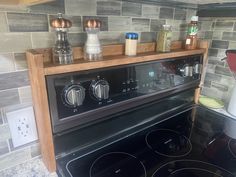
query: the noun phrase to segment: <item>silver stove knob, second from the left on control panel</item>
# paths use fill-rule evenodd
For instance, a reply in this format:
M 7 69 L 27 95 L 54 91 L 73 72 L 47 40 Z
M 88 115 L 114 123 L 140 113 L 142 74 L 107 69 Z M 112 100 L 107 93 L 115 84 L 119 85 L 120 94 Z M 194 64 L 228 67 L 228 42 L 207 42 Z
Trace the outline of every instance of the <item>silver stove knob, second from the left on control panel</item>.
M 101 100 L 106 100 L 109 98 L 110 86 L 106 80 L 99 79 L 97 81 L 92 81 L 91 89 L 92 89 L 93 96 L 97 100 L 101 101 Z

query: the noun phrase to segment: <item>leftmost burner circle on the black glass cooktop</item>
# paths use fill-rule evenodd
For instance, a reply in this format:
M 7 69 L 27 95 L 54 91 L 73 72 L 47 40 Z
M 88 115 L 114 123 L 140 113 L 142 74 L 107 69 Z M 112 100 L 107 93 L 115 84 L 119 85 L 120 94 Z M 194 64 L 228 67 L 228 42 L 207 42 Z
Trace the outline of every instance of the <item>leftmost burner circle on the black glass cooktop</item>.
M 146 177 L 146 169 L 143 163 L 131 154 L 111 152 L 93 162 L 90 177 Z

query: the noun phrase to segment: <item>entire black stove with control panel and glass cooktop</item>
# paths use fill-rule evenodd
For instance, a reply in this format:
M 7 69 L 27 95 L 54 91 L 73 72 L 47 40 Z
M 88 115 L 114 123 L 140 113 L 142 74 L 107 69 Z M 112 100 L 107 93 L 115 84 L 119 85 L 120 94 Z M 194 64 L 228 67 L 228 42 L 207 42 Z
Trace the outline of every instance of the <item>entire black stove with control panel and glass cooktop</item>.
M 233 177 L 230 118 L 194 104 L 202 55 L 48 76 L 63 177 Z

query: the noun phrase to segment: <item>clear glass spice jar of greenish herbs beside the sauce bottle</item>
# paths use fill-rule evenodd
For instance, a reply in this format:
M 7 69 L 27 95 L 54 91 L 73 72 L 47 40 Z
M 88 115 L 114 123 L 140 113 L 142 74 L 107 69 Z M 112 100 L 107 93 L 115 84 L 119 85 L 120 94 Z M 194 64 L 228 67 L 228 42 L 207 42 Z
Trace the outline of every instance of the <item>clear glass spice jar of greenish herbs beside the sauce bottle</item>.
M 172 31 L 170 25 L 163 25 L 157 37 L 157 52 L 170 52 Z

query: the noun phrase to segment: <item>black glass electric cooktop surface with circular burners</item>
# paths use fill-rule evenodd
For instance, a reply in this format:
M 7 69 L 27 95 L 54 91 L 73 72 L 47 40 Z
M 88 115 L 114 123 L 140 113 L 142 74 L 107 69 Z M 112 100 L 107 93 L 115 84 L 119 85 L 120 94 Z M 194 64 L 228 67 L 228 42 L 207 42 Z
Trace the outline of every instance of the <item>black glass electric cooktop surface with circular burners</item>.
M 93 152 L 62 158 L 65 176 L 235 177 L 236 140 L 224 134 L 228 118 L 194 109 Z

